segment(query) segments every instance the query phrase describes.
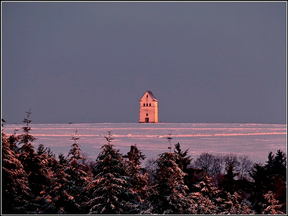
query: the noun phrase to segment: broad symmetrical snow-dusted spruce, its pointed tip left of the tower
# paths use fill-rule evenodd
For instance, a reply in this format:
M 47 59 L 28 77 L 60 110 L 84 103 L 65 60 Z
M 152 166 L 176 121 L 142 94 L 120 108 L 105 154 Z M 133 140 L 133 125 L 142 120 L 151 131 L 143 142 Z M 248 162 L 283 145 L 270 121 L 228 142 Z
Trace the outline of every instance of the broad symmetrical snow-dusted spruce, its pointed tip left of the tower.
M 124 214 L 127 208 L 127 190 L 129 177 L 125 175 L 124 160 L 119 149 L 111 144 L 113 138 L 111 131 L 105 136 L 107 144 L 97 156 L 93 167 L 94 180 L 86 185 L 86 198 L 84 205 L 90 209 L 89 214 Z

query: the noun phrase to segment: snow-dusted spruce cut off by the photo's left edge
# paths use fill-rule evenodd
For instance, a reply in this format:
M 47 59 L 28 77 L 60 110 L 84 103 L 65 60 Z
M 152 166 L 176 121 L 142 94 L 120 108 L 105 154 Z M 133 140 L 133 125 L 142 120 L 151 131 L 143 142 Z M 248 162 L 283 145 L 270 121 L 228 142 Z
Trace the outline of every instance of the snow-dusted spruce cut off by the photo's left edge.
M 16 143 L 11 144 L 8 141 L 3 129 L 1 141 L 1 213 L 4 215 L 26 214 L 23 209 L 29 195 L 26 172 L 13 151 Z

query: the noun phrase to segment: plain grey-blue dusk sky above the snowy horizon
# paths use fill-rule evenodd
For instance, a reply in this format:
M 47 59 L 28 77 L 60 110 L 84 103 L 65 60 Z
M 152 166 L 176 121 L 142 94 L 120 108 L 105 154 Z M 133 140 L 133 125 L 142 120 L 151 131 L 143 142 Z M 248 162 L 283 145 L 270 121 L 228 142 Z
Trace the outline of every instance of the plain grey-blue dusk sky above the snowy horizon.
M 287 124 L 287 2 L 3 2 L 7 124 Z

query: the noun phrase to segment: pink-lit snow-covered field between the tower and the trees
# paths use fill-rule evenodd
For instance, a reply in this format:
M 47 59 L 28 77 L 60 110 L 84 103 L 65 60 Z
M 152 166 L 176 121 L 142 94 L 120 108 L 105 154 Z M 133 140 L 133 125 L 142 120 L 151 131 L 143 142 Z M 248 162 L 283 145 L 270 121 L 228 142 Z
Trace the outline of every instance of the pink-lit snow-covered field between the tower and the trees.
M 25 125 L 5 124 L 4 132 L 9 136 L 14 129 Z M 103 137 L 111 130 L 115 138 L 112 144 L 126 154 L 130 145 L 137 144 L 147 158 L 157 158 L 158 154 L 169 151 L 166 137 L 171 132 L 171 145 L 179 142 L 181 149 L 189 148 L 194 159 L 202 152 L 212 154 L 235 153 L 248 155 L 254 162 L 265 162 L 269 151 L 276 153 L 281 149 L 287 153 L 287 126 L 279 124 L 183 124 L 183 123 L 91 123 L 91 124 L 30 124 L 31 135 L 39 143 L 50 147 L 53 153 L 67 155 L 70 140 L 77 128 L 77 140 L 83 153 L 96 159 L 100 147 L 107 141 Z M 21 129 L 16 134 L 21 134 Z M 58 157 L 57 157 L 58 158 Z

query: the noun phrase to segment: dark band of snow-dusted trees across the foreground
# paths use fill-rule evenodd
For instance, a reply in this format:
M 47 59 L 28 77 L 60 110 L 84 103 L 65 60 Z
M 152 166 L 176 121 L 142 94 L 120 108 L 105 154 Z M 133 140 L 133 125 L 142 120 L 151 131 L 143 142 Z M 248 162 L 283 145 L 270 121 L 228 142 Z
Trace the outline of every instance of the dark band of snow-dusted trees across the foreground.
M 2 129 L 2 214 L 287 214 L 287 158 L 280 149 L 265 164 L 235 154 L 193 160 L 178 142 L 173 149 L 170 132 L 169 151 L 141 167 L 146 157 L 137 144 L 122 155 L 107 131 L 107 143 L 89 162 L 76 129 L 68 155 L 56 159 L 43 144 L 34 150 L 26 113 L 22 134 Z

